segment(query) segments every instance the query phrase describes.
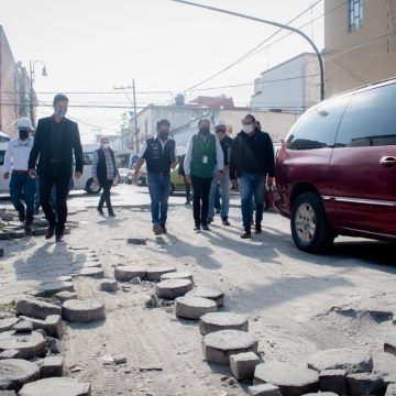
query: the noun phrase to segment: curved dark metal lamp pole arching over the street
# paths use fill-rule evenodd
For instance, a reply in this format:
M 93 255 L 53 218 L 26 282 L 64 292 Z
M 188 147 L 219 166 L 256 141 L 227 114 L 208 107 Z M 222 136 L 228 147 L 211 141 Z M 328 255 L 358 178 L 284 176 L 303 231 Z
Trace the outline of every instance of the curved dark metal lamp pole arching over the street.
M 204 9 L 211 10 L 211 11 L 216 11 L 216 12 L 226 13 L 226 14 L 233 15 L 233 16 L 240 16 L 240 18 L 249 19 L 249 20 L 251 20 L 251 21 L 256 21 L 256 22 L 261 22 L 261 23 L 271 24 L 271 25 L 273 25 L 273 26 L 280 28 L 280 29 L 285 29 L 285 30 L 288 30 L 288 31 L 292 31 L 292 32 L 294 32 L 294 33 L 299 34 L 301 37 L 304 37 L 304 38 L 311 45 L 311 47 L 314 48 L 314 51 L 315 51 L 315 53 L 316 53 L 316 55 L 317 55 L 317 57 L 318 57 L 319 68 L 320 68 L 320 100 L 323 100 L 323 99 L 324 99 L 324 67 L 323 67 L 323 59 L 322 59 L 322 57 L 321 57 L 321 55 L 320 55 L 320 52 L 319 52 L 318 47 L 317 47 L 316 44 L 312 42 L 312 40 L 309 38 L 309 37 L 308 37 L 304 32 L 301 32 L 300 30 L 298 30 L 298 29 L 296 29 L 296 28 L 292 28 L 292 26 L 285 25 L 285 24 L 283 24 L 283 23 L 273 22 L 273 21 L 267 21 L 267 20 L 263 20 L 263 19 L 260 19 L 260 18 L 241 14 L 241 13 L 238 13 L 238 12 L 232 12 L 232 11 L 227 11 L 227 10 L 218 9 L 218 8 L 215 8 L 215 7 L 209 7 L 209 6 L 204 6 L 204 4 L 197 4 L 197 3 L 194 3 L 194 2 L 190 2 L 190 1 L 185 1 L 185 0 L 172 0 L 172 1 L 179 2 L 179 3 L 184 3 L 184 4 L 187 4 L 187 6 L 199 7 L 199 8 L 204 8 Z

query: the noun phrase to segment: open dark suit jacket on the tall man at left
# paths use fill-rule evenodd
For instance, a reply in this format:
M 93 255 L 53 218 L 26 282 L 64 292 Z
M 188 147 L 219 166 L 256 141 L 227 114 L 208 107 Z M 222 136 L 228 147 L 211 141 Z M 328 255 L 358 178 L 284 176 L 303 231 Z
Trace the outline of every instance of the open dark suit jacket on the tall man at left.
M 34 169 L 37 158 L 38 175 L 45 175 L 51 172 L 51 123 L 53 117 L 38 120 L 37 129 L 34 134 L 34 144 L 29 157 L 29 169 Z M 78 125 L 68 119 L 64 119 L 63 138 L 62 138 L 62 175 L 72 178 L 73 173 L 73 154 L 76 162 L 76 172 L 82 172 L 82 146 L 80 142 Z

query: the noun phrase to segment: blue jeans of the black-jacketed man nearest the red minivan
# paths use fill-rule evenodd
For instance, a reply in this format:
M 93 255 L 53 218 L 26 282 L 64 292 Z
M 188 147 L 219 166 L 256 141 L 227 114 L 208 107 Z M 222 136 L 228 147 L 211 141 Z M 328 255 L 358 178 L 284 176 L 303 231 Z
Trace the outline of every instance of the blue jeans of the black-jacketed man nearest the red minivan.
M 241 177 L 238 179 L 241 194 L 243 228 L 245 230 L 250 230 L 251 227 L 253 197 L 256 211 L 255 223 L 256 227 L 261 227 L 264 210 L 264 180 L 265 177 L 263 175 L 253 175 L 248 172 L 242 172 Z

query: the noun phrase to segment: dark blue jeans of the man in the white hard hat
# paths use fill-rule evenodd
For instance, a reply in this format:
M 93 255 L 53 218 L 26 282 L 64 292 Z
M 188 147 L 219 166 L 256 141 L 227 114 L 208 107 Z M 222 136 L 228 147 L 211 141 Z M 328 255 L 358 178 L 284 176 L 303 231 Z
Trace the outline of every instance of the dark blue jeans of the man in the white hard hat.
M 31 220 L 34 216 L 35 182 L 29 177 L 28 173 L 18 174 L 13 172 L 10 179 L 10 198 L 18 211 L 25 210 L 21 201 L 22 193 L 26 204 L 26 219 Z

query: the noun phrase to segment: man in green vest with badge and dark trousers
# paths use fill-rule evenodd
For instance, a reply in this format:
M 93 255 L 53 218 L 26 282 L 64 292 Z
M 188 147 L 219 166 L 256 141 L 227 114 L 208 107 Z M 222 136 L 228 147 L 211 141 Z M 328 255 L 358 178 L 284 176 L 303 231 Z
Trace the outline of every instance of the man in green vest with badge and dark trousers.
M 213 177 L 221 178 L 224 168 L 223 151 L 216 135 L 210 133 L 209 120 L 198 122 L 199 132 L 189 140 L 184 162 L 186 180 L 193 184 L 195 231 L 209 231 L 209 194 Z M 217 170 L 216 170 L 217 167 Z

